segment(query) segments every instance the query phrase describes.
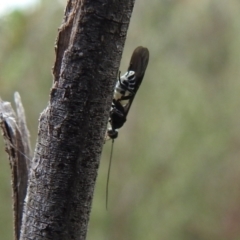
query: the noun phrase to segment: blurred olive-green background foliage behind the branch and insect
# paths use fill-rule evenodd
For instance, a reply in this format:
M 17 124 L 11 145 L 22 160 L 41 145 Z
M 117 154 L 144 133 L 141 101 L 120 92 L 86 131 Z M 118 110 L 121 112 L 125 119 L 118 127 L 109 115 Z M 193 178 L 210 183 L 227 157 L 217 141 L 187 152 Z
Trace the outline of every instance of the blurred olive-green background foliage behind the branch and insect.
M 63 10 L 42 0 L 0 18 L 0 96 L 20 92 L 33 149 Z M 88 239 L 239 240 L 240 2 L 137 0 L 122 72 L 138 45 L 149 66 L 115 142 L 108 211 L 104 146 Z M 2 139 L 0 156 L 0 238 L 10 240 Z

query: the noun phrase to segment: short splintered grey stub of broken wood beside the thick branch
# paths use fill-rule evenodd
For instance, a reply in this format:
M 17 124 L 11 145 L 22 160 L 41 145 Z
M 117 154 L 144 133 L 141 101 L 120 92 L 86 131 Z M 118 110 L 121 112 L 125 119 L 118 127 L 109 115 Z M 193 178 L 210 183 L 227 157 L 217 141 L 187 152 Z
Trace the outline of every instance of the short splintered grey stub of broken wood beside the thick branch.
M 9 102 L 0 99 L 0 128 L 9 155 L 13 192 L 14 239 L 20 237 L 30 162 L 30 141 L 21 98 L 15 93 L 17 115 Z

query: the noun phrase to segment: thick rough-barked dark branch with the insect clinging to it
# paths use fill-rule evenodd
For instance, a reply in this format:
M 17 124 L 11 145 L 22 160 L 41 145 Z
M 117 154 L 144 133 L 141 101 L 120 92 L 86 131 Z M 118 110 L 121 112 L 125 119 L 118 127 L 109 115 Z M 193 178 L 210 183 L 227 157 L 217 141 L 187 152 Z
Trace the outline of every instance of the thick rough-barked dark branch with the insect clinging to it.
M 20 239 L 86 239 L 134 0 L 69 0 L 40 116 Z

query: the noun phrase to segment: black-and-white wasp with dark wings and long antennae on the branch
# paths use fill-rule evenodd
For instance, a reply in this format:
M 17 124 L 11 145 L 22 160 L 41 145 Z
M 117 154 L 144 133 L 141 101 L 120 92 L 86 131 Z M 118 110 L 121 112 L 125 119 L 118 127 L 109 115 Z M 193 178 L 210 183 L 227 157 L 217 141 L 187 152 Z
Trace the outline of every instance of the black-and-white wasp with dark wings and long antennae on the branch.
M 141 46 L 137 47 L 133 51 L 127 72 L 119 77 L 114 89 L 112 107 L 109 114 L 109 128 L 106 133 L 106 139 L 112 139 L 106 186 L 106 208 L 108 205 L 108 183 L 114 139 L 118 137 L 118 129 L 121 128 L 127 120 L 129 109 L 142 83 L 148 60 L 148 49 Z

